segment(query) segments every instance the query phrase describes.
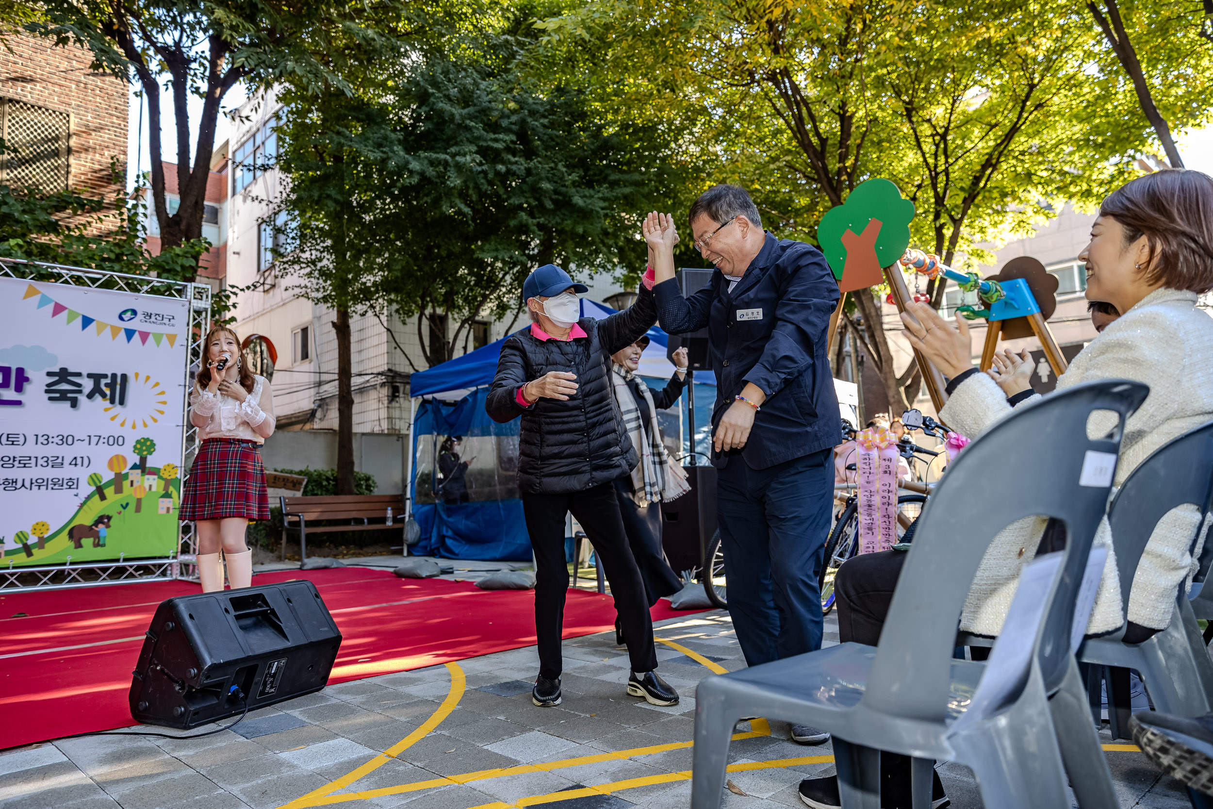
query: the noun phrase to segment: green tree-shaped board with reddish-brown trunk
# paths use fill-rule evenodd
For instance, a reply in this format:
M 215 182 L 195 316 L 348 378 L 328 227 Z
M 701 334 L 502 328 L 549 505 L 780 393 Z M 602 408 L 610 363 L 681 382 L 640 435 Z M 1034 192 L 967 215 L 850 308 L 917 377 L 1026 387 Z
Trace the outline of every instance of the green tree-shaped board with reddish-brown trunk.
M 818 243 L 842 292 L 884 283 L 910 244 L 913 203 L 888 180 L 867 180 L 818 226 Z

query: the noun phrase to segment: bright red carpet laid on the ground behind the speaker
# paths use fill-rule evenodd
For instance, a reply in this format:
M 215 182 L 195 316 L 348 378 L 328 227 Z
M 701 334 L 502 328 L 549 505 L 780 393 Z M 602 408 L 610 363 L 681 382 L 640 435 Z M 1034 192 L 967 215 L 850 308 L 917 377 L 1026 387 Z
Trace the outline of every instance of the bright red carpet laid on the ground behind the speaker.
M 368 568 L 261 574 L 254 583 L 290 579 L 315 582 L 343 636 L 330 683 L 535 643 L 531 591 Z M 197 592 L 188 582 L 148 582 L 0 594 L 0 750 L 135 724 L 126 693 L 152 614 Z M 21 613 L 27 617 L 12 617 Z M 654 621 L 688 614 L 664 599 L 653 608 Z M 565 638 L 614 626 L 610 596 L 569 592 Z

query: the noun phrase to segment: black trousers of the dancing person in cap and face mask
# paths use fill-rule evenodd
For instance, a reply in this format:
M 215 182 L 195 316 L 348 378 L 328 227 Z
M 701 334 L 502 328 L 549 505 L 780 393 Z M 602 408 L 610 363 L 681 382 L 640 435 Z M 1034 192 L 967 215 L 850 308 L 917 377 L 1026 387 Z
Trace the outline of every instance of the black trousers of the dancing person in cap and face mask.
M 610 582 L 632 671 L 643 673 L 656 668 L 653 616 L 645 602 L 640 571 L 627 546 L 623 520 L 615 500 L 615 484 L 604 483 L 558 495 L 524 492 L 522 497 L 526 530 L 535 549 L 535 636 L 540 676 L 554 679 L 564 670 L 560 636 L 564 597 L 569 589 L 569 569 L 564 562 L 564 515 L 569 512 L 585 529 Z

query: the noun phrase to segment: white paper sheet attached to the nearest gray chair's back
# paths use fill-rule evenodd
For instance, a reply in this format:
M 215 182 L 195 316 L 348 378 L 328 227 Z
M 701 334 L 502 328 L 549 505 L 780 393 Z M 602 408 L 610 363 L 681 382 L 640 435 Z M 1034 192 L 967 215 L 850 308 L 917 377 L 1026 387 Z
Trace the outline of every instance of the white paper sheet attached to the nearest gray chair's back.
M 981 674 L 981 680 L 978 683 L 968 710 L 952 723 L 949 730 L 950 735 L 992 716 L 1024 686 L 1032 661 L 1036 636 L 1044 620 L 1044 605 L 1049 587 L 1053 585 L 1058 568 L 1061 566 L 1064 556 L 1061 552 L 1049 553 L 1024 565 L 1019 574 L 1015 597 L 1010 602 L 1007 620 L 1002 625 L 1002 633 L 995 642 L 993 649 L 990 650 L 985 672 Z M 1075 600 L 1071 643 L 1075 638 L 1074 632 L 1077 632 L 1078 642 L 1082 642 L 1083 629 L 1087 628 L 1087 622 L 1090 620 L 1090 610 L 1095 604 L 1095 593 L 1099 591 L 1099 580 L 1106 559 L 1106 547 L 1093 547 L 1090 556 L 1087 557 L 1087 568 L 1083 571 L 1082 583 Z M 1074 648 L 1077 649 L 1077 645 Z

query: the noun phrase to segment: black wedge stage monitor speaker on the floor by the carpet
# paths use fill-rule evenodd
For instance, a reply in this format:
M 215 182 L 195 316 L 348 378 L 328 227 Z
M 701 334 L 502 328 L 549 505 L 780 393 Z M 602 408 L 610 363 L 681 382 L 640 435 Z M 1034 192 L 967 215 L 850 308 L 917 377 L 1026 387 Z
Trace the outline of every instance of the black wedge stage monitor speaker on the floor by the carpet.
M 170 598 L 132 672 L 131 717 L 194 728 L 241 713 L 245 700 L 254 711 L 319 691 L 340 645 L 307 580 Z

